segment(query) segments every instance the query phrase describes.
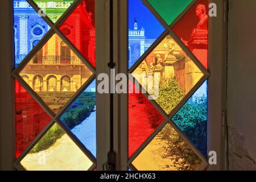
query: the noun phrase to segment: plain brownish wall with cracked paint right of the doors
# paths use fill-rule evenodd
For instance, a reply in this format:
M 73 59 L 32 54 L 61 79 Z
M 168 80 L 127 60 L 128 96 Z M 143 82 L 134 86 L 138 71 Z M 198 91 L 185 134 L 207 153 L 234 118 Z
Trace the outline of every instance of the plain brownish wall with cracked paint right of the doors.
M 256 1 L 229 0 L 229 169 L 256 169 Z

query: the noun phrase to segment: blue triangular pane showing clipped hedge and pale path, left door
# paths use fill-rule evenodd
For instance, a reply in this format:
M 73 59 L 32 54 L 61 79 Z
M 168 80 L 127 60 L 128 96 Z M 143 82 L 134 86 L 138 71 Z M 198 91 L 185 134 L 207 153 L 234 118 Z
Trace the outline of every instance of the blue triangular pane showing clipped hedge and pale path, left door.
M 60 120 L 96 158 L 96 81 L 88 86 Z

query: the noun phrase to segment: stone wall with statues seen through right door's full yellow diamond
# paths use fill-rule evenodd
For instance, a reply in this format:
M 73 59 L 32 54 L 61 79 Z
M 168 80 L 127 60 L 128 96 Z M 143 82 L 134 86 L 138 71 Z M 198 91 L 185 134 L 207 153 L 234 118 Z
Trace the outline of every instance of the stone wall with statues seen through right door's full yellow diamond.
M 144 77 L 141 77 L 141 75 Z M 146 59 L 133 72 L 138 75 L 137 80 L 147 82 L 147 77 L 159 77 L 160 82 L 168 78 L 175 77 L 177 83 L 184 93 L 189 90 L 200 80 L 203 73 L 195 63 L 185 55 L 185 52 L 171 38 L 167 36 L 161 43 L 146 57 Z M 136 77 L 136 76 L 135 76 Z M 143 80 L 144 79 L 144 80 Z M 154 86 L 154 85 L 152 85 Z

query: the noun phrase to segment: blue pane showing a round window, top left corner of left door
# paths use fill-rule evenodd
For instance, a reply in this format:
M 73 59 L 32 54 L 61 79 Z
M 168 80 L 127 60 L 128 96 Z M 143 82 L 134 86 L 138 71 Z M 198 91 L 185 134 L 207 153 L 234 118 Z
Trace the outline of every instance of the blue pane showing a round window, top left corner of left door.
M 15 67 L 50 29 L 26 0 L 14 0 Z

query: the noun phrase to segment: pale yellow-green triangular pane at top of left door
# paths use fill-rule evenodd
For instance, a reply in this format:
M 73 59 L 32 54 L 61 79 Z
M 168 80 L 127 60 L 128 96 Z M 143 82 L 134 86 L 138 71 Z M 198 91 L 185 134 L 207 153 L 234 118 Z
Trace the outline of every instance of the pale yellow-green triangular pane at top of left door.
M 46 14 L 53 23 L 62 16 L 74 0 L 33 0 L 36 5 L 43 11 L 39 14 Z

